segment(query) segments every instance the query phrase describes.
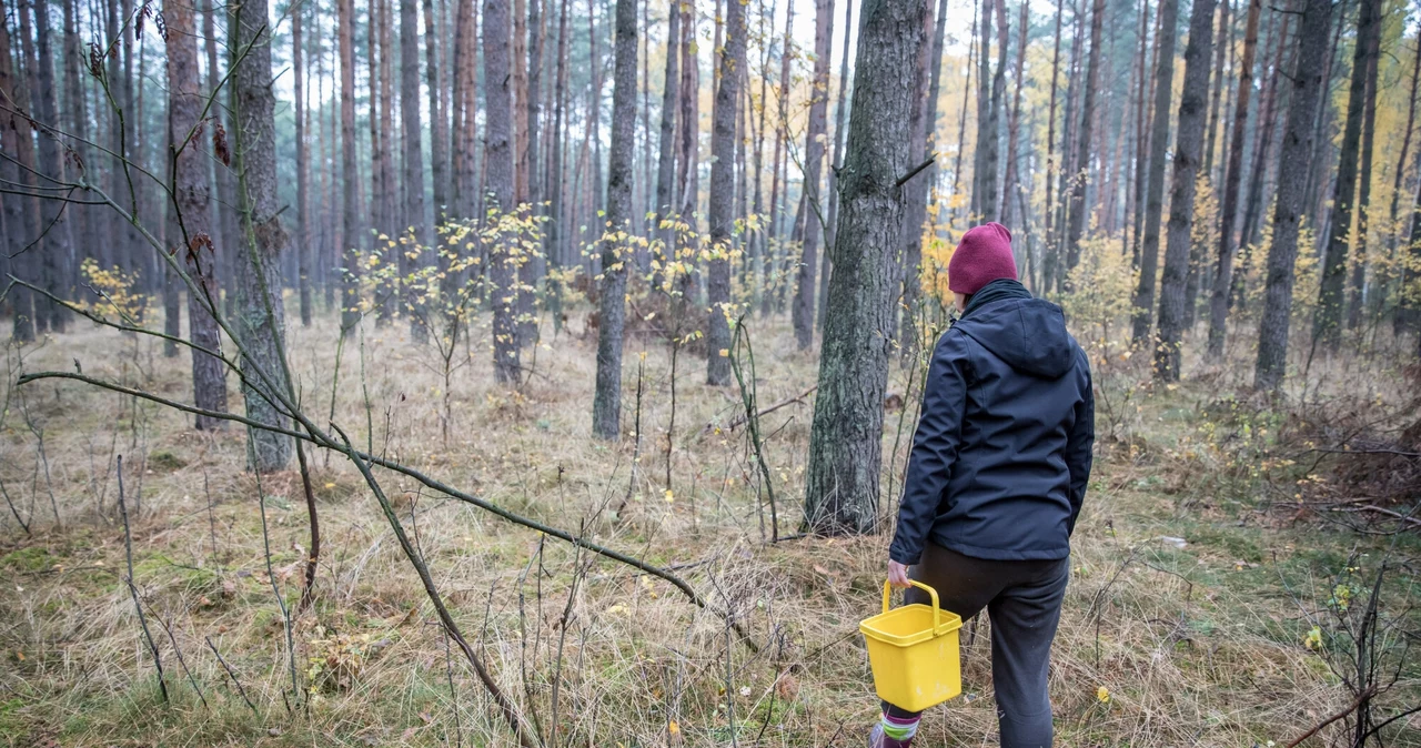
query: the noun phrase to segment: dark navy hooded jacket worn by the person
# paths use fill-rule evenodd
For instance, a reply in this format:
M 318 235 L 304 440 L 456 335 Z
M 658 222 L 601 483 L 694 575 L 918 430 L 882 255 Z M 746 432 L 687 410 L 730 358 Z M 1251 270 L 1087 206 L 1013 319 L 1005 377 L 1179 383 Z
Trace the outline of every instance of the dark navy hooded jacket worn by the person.
M 1054 304 L 993 281 L 938 341 L 888 555 L 1060 559 L 1090 480 L 1090 362 Z

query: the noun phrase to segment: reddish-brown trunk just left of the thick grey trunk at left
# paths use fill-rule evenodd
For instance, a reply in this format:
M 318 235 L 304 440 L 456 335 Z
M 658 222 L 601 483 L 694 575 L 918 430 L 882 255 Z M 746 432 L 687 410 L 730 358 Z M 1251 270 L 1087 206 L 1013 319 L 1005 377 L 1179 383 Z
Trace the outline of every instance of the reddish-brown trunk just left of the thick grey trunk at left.
M 206 155 L 202 152 L 199 126 L 206 92 L 198 75 L 198 37 L 193 9 L 173 3 L 163 11 L 168 23 L 168 126 L 173 135 L 172 204 L 182 217 L 182 233 L 169 240 L 185 258 L 188 274 L 200 294 L 188 294 L 188 334 L 192 351 L 193 405 L 203 410 L 227 410 L 226 368 L 222 361 L 199 349 L 219 351 L 222 335 L 210 308 L 217 308 L 213 278 L 215 244 L 212 237 L 212 186 L 207 180 Z M 300 79 L 300 78 L 298 78 Z M 297 99 L 300 101 L 300 98 Z M 206 297 L 206 298 L 203 298 Z M 199 431 L 216 431 L 222 419 L 196 416 Z

